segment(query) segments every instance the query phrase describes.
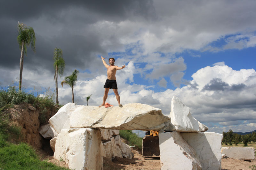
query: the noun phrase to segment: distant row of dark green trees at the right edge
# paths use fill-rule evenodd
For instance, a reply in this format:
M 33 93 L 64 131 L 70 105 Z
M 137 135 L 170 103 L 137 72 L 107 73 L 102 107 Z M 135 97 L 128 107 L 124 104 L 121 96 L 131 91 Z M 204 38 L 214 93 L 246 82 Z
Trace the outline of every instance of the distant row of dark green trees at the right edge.
M 249 134 L 239 135 L 237 133 L 234 133 L 231 129 L 229 129 L 228 132 L 223 131 L 222 135 L 222 143 L 224 143 L 225 145 L 235 144 L 237 146 L 238 143 L 243 142 L 244 146 L 248 146 L 248 143 L 256 142 L 255 131 Z

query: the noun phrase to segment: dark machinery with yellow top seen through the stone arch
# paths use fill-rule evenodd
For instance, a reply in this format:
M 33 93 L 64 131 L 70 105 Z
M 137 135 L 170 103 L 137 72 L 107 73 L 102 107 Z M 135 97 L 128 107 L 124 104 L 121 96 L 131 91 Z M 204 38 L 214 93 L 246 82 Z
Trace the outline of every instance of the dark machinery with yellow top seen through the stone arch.
M 145 133 L 142 139 L 142 157 L 160 157 L 158 131 L 150 130 Z

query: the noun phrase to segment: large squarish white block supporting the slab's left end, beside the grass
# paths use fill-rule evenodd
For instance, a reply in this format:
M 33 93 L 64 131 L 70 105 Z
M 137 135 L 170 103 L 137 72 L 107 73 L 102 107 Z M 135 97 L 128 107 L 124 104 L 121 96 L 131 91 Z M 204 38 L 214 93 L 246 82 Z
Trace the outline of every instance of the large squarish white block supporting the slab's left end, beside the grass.
M 54 159 L 63 159 L 71 169 L 103 169 L 100 136 L 97 129 L 62 129 L 56 140 Z

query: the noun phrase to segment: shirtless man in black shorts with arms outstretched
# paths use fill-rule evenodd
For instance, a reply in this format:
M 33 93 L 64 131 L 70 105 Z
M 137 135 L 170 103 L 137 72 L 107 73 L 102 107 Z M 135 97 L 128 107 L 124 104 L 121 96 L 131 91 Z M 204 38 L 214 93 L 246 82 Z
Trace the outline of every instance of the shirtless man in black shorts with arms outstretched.
M 105 88 L 105 92 L 104 92 L 104 96 L 103 96 L 103 103 L 102 105 L 100 105 L 99 107 L 101 106 L 104 106 L 105 105 L 105 102 L 108 98 L 108 91 L 109 89 L 113 89 L 115 95 L 116 95 L 116 100 L 118 102 L 118 106 L 122 107 L 122 105 L 120 104 L 120 96 L 117 92 L 117 85 L 116 85 L 116 70 L 121 70 L 125 67 L 125 65 L 123 65 L 122 67 L 118 67 L 115 64 L 115 59 L 114 58 L 109 58 L 108 59 L 108 63 L 110 65 L 108 65 L 106 62 L 105 62 L 105 58 L 103 58 L 101 56 L 101 59 L 102 59 L 102 62 L 103 64 L 105 65 L 105 67 L 108 69 L 107 71 L 107 74 L 108 74 L 108 79 L 106 80 L 106 83 L 104 85 L 104 88 Z

